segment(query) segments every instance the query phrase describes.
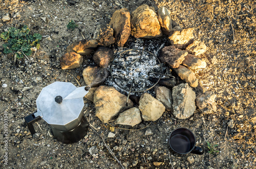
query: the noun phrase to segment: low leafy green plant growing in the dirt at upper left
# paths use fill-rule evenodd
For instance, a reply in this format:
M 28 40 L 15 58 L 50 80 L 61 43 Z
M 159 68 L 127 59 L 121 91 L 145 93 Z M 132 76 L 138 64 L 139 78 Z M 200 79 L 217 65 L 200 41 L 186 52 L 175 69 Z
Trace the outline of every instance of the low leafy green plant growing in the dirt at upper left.
M 31 47 L 39 49 L 39 41 L 42 39 L 40 34 L 35 33 L 30 35 L 30 29 L 27 25 L 24 25 L 21 29 L 10 27 L 7 32 L 1 34 L 1 38 L 6 42 L 4 47 L 4 53 L 15 52 L 18 59 L 23 58 L 24 54 L 27 56 L 32 54 Z

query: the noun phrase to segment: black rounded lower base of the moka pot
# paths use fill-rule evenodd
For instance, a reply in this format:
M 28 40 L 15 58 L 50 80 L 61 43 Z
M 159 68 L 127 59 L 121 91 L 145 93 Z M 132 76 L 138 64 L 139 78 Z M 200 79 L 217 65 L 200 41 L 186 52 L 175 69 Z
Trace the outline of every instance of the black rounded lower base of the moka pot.
M 52 127 L 53 137 L 59 140 L 62 143 L 70 144 L 77 143 L 80 139 L 82 139 L 88 131 L 89 123 L 86 118 L 82 116 L 81 123 L 70 131 L 59 131 Z

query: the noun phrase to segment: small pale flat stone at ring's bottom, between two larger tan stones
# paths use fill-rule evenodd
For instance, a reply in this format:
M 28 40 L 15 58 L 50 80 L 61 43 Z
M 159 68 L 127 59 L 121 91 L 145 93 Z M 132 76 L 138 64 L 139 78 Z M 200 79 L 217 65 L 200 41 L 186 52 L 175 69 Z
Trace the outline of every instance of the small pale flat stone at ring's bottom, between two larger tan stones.
M 115 124 L 129 125 L 133 127 L 141 121 L 139 108 L 133 107 L 122 112 L 115 121 Z

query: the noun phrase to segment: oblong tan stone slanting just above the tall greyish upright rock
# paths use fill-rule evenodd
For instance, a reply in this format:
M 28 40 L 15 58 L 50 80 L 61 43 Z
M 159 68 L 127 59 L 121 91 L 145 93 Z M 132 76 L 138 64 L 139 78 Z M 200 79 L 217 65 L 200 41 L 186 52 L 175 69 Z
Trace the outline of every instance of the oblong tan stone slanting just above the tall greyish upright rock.
M 182 80 L 188 82 L 190 87 L 196 88 L 198 86 L 198 79 L 190 69 L 180 65 L 178 68 L 174 70 Z

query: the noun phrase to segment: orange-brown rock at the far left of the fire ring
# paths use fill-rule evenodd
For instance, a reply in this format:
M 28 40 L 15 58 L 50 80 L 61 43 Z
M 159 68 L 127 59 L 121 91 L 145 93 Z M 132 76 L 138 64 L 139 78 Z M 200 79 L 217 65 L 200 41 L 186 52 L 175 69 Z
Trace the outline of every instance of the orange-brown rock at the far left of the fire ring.
M 82 64 L 83 58 L 80 54 L 69 52 L 62 55 L 59 59 L 61 69 L 74 69 L 79 68 Z

